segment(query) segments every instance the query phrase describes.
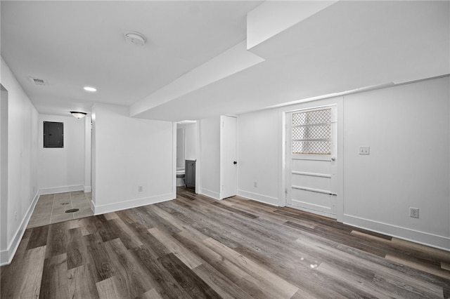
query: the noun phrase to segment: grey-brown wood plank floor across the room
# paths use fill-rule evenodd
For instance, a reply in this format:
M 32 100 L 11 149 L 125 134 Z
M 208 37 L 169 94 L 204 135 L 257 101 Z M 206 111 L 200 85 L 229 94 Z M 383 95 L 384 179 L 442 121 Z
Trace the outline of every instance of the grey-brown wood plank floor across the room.
M 450 253 L 240 197 L 34 227 L 1 298 L 449 298 Z

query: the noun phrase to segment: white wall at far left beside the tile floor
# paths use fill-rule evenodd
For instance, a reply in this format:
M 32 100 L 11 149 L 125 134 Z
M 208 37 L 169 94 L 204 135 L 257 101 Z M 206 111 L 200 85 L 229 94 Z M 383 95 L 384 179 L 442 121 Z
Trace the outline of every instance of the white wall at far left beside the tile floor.
M 37 201 L 37 110 L 1 58 L 1 84 L 8 91 L 8 218 L 7 244 L 0 263 L 8 263 L 17 249 Z

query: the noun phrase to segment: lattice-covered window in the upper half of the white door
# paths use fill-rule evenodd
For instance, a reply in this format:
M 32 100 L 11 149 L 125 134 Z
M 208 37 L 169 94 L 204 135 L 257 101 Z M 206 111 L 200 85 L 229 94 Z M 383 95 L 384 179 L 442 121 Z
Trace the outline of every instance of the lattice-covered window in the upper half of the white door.
M 293 114 L 293 154 L 331 154 L 331 109 Z

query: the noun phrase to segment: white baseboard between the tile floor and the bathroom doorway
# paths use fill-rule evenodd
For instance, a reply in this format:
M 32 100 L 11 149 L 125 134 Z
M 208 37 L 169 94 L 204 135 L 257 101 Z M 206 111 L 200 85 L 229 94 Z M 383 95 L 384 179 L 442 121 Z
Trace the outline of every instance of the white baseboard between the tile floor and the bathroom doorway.
M 141 199 L 131 199 L 129 201 L 120 201 L 112 204 L 96 205 L 91 201 L 91 208 L 94 215 L 101 215 L 115 211 L 125 210 L 127 208 L 136 208 L 138 206 L 146 206 L 148 204 L 158 204 L 158 202 L 169 201 L 175 199 L 173 193 L 156 195 L 154 197 L 144 197 Z

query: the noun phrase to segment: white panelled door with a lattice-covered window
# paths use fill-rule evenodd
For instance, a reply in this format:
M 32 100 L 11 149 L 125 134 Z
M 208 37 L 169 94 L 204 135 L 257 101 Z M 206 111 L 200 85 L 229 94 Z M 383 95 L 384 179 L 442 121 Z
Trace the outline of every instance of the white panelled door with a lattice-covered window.
M 336 107 L 289 112 L 286 123 L 286 206 L 336 218 Z

